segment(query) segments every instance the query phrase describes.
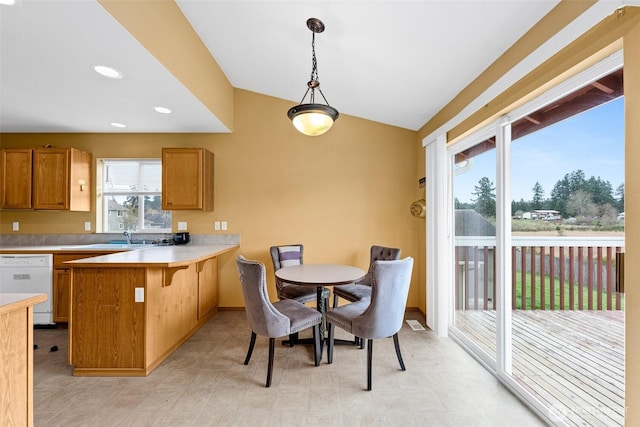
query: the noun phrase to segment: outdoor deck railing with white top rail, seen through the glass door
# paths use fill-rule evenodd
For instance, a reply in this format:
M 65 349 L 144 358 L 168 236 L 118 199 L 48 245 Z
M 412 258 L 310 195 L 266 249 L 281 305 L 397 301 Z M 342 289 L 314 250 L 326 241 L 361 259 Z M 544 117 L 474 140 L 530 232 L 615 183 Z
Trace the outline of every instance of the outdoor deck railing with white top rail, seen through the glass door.
M 521 310 L 621 310 L 616 253 L 624 238 L 512 238 L 511 307 Z M 496 308 L 495 238 L 456 237 L 456 308 Z

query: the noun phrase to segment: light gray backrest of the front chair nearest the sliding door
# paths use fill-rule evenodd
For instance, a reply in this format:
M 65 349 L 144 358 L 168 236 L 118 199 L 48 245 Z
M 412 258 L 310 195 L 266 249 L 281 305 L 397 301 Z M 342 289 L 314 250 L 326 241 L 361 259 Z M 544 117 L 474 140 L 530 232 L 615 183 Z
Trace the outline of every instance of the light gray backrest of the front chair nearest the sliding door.
M 409 296 L 413 258 L 374 261 L 371 269 L 371 302 L 353 319 L 351 332 L 362 338 L 390 337 L 402 328 Z

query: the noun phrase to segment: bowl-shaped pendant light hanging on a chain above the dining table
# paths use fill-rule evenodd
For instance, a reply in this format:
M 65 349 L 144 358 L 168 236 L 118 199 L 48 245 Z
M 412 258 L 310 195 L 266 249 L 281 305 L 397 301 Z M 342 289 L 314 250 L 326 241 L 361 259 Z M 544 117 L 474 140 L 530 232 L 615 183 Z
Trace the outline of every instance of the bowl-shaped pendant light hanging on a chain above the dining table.
M 320 90 L 320 81 L 318 80 L 318 62 L 316 61 L 316 33 L 324 31 L 324 24 L 317 18 L 309 18 L 307 27 L 311 30 L 311 79 L 307 83 L 307 91 L 304 93 L 300 105 L 291 107 L 287 112 L 287 116 L 293 122 L 293 125 L 301 133 L 308 136 L 318 136 L 327 132 L 338 120 L 338 110 L 333 108 L 327 102 L 322 90 Z M 324 104 L 315 103 L 315 92 L 320 92 Z M 303 104 L 307 94 L 309 95 L 309 103 Z

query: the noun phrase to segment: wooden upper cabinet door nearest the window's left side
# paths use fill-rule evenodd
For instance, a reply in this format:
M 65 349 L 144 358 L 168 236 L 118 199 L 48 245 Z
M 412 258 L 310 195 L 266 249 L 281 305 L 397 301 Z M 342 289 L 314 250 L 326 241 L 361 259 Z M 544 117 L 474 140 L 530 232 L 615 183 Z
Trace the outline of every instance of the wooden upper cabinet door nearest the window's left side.
M 33 150 L 33 208 L 69 209 L 69 149 Z

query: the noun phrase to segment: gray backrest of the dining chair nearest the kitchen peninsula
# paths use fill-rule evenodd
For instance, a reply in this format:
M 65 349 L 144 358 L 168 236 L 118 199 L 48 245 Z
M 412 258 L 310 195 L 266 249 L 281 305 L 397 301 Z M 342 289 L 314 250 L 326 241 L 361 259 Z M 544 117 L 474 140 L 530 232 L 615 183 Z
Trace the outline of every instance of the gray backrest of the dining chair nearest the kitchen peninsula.
M 236 262 L 251 330 L 257 335 L 272 338 L 288 335 L 291 321 L 269 301 L 264 264 L 247 260 L 242 255 L 238 256 Z

